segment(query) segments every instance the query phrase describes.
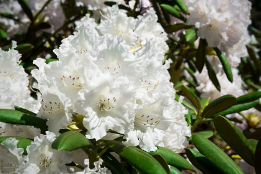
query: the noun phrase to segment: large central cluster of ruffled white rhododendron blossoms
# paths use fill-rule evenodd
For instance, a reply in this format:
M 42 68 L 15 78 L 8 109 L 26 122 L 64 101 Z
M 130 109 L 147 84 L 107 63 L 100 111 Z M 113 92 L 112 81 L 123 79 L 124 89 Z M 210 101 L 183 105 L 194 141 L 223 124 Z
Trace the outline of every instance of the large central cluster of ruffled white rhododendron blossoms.
M 38 116 L 48 119 L 49 130 L 58 135 L 80 114 L 87 138 L 113 130 L 124 134 L 127 146 L 181 151 L 190 136 L 187 110 L 174 100 L 170 62 L 162 64 L 167 34 L 155 12 L 135 19 L 113 6 L 100 24 L 87 14 L 76 30 L 54 50 L 59 61 L 34 61 L 34 87 L 42 94 Z

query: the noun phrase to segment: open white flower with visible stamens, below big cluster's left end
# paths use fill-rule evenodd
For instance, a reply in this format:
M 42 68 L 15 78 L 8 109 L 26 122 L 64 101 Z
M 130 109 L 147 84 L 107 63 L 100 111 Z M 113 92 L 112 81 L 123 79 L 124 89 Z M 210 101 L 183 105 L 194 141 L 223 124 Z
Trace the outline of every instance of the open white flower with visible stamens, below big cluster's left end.
M 27 146 L 24 164 L 17 170 L 20 174 L 67 174 L 65 164 L 72 162 L 72 154 L 68 151 L 52 149 L 55 134 L 46 132 L 42 138 L 36 136 L 31 145 Z

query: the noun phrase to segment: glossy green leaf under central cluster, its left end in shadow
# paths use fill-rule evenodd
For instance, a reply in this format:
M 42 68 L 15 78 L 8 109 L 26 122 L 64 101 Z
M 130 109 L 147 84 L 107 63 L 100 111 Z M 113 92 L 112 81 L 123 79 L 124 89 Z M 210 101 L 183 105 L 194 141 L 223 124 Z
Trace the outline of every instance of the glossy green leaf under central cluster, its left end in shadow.
M 109 148 L 119 154 L 137 170 L 145 174 L 167 174 L 162 165 L 151 155 L 136 147 L 126 147 L 117 141 L 105 141 Z

